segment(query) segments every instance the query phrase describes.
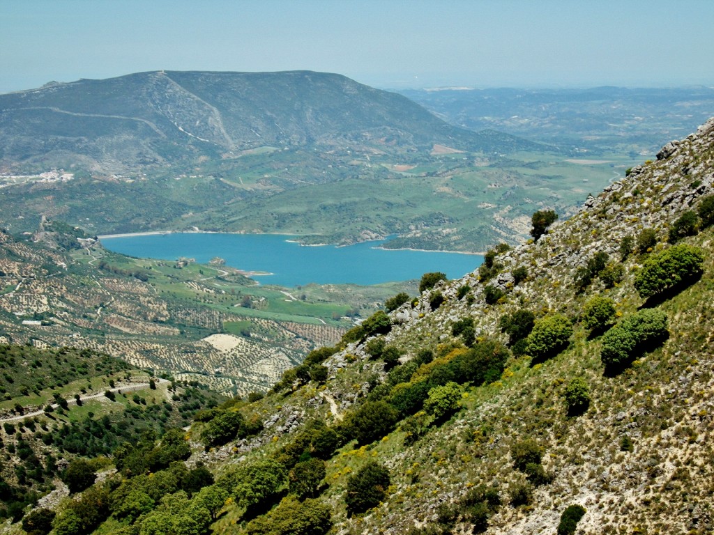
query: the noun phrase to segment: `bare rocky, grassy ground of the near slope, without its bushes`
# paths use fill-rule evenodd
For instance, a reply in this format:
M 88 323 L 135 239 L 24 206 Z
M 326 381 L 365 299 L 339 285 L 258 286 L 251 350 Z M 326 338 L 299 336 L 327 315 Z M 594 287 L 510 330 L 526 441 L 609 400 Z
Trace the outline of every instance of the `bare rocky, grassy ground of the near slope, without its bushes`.
M 595 295 L 612 299 L 616 317 L 623 320 L 645 305 L 633 287 L 635 274 L 647 258 L 670 247 L 668 230 L 675 220 L 697 208 L 703 195 L 714 193 L 714 119 L 665 146 L 658 158 L 589 198 L 575 217 L 553 225 L 537 242 L 496 256 L 501 271 L 488 284 L 505 292 L 497 302 L 486 303 L 486 285 L 475 272 L 442 282 L 424 292 L 416 305 L 408 303 L 391 314 L 395 325 L 384 340 L 402 350 L 405 362 L 424 348 L 435 350 L 441 362 L 458 355 L 461 338 L 451 331 L 463 318 L 473 319 L 477 342 L 506 342 L 499 319 L 520 308 L 538 318 L 565 315 L 573 322 L 573 335 L 554 357 L 535 362 L 528 355 L 513 356 L 498 381 L 466 387 L 462 409 L 446 423 L 432 424 L 413 444 L 405 442 L 409 428 L 402 423 L 367 447 L 353 449 L 350 444 L 338 452 L 327 463 L 330 486 L 322 496 L 332 507 L 335 533 L 470 532 L 476 529 L 473 519 L 457 509 L 450 522 L 444 505 L 456 507 L 469 489 L 481 484 L 498 489 L 503 503 L 488 519 L 488 534 L 553 534 L 570 504 L 586 509 L 579 534 L 713 529 L 712 230 L 682 240 L 704 250 L 703 277 L 677 295 L 646 303 L 668 318 L 669 337 L 663 345 L 639 355 L 625 370 L 605 373 L 603 338 L 591 335 L 580 320 L 585 302 Z M 655 231 L 656 245 L 620 260 L 624 238 L 637 238 L 645 229 Z M 595 277 L 578 290 L 578 267 L 595 253 L 606 253 L 610 263 L 622 265 L 622 279 L 605 287 Z M 514 284 L 513 271 L 521 266 L 528 277 Z M 465 285 L 472 297 L 459 299 L 458 290 Z M 436 292 L 445 301 L 432 310 L 429 303 Z M 287 444 L 311 417 L 334 425 L 348 419 L 386 378 L 383 363 L 366 352 L 368 342 L 351 343 L 326 360 L 331 378 L 323 387 L 311 382 L 286 397 L 273 394 L 252 404 L 249 412 L 266 417 L 262 438 L 229 444 L 206 454 L 206 461 L 213 459 L 220 472 L 246 462 L 246 454 L 249 461 L 274 451 L 273 444 Z M 578 416 L 568 414 L 564 400 L 576 377 L 588 384 L 591 398 Z M 533 487 L 526 505 L 508 505 L 526 484 L 511 452 L 524 440 L 543 448 L 543 468 L 552 480 Z M 348 516 L 348 474 L 369 459 L 390 470 L 388 497 L 364 516 Z M 216 529 L 240 532 L 229 525 Z

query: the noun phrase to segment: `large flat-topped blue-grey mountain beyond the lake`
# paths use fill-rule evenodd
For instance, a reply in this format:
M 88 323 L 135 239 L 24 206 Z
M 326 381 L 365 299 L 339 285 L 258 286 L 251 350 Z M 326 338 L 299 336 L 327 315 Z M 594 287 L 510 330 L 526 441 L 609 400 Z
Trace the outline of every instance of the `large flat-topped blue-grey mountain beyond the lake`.
M 448 125 L 396 93 L 331 73 L 154 71 L 0 95 L 0 165 L 126 173 L 246 151 L 504 150 L 535 146 Z

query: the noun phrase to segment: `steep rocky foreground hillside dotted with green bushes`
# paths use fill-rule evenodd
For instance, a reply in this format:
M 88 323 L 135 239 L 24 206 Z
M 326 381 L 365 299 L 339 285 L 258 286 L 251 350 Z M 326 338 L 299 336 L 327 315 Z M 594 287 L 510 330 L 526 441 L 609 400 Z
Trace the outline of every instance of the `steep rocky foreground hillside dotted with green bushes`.
M 531 243 L 423 277 L 262 399 L 197 414 L 185 468 L 131 457 L 174 434 L 121 449 L 55 532 L 711 531 L 713 168 L 714 118 L 573 217 L 541 213 Z M 199 466 L 213 482 L 187 491 Z

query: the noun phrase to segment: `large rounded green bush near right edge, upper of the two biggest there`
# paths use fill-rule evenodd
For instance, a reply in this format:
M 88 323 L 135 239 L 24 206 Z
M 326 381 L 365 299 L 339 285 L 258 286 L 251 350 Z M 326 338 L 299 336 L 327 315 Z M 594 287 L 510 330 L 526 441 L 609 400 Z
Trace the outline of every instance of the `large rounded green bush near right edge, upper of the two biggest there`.
M 699 248 L 674 245 L 645 260 L 635 275 L 635 290 L 641 297 L 650 297 L 688 284 L 702 274 L 703 262 L 704 255 Z

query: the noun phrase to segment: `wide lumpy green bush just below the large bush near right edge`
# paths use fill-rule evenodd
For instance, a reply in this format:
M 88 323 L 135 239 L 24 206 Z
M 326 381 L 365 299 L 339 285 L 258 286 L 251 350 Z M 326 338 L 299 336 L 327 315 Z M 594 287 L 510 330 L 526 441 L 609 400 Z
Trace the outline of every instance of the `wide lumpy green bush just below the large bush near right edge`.
M 668 335 L 667 315 L 661 310 L 643 309 L 625 318 L 603 335 L 600 359 L 605 366 L 622 366 L 636 350 L 660 342 Z

